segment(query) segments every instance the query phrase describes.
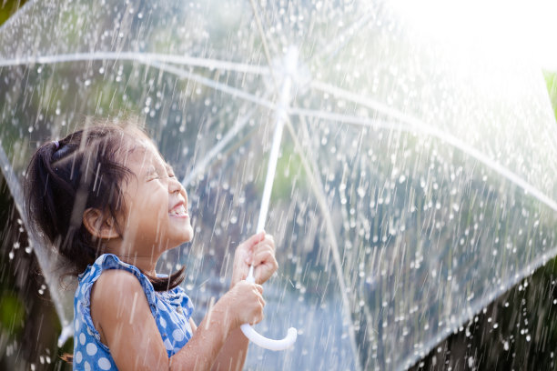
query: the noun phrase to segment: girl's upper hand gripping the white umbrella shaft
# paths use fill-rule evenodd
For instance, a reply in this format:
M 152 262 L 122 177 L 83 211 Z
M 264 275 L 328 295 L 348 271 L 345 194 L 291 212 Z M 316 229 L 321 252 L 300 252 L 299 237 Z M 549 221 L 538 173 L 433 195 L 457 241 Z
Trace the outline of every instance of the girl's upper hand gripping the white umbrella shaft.
M 246 279 L 249 266 L 253 261 L 256 283 L 262 285 L 273 276 L 279 264 L 275 258 L 275 241 L 273 236 L 264 231 L 253 235 L 240 244 L 234 255 L 234 267 L 232 268 L 232 286 Z

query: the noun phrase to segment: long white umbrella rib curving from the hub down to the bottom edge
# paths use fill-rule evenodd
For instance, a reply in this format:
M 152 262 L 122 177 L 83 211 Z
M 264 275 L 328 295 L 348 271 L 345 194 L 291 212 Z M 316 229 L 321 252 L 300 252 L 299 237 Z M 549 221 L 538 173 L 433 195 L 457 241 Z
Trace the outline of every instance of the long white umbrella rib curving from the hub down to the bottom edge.
M 361 369 L 360 353 L 358 352 L 358 344 L 356 342 L 356 333 L 354 331 L 354 326 L 352 324 L 349 297 L 348 297 L 348 294 L 347 294 L 348 293 L 348 287 L 346 286 L 346 281 L 345 281 L 345 278 L 343 276 L 342 263 L 341 263 L 340 253 L 339 253 L 339 243 L 337 242 L 337 237 L 334 234 L 334 227 L 332 225 L 332 221 L 330 219 L 330 216 L 327 212 L 328 211 L 327 201 L 325 201 L 326 197 L 325 197 L 325 195 L 323 195 L 323 191 L 322 191 L 323 186 L 320 182 L 319 177 L 317 175 L 315 175 L 314 168 L 316 168 L 317 165 L 315 163 L 313 163 L 313 164 L 309 163 L 308 156 L 305 155 L 305 152 L 303 150 L 303 146 L 299 143 L 299 140 L 298 140 L 298 137 L 296 136 L 296 132 L 294 130 L 294 127 L 292 126 L 289 119 L 287 119 L 285 121 L 286 121 L 286 126 L 289 130 L 289 133 L 290 133 L 290 137 L 294 141 L 295 148 L 298 149 L 299 156 L 302 160 L 302 165 L 304 166 L 304 169 L 306 170 L 306 173 L 309 176 L 309 185 L 313 189 L 313 192 L 315 193 L 315 196 L 317 197 L 319 209 L 321 210 L 321 213 L 325 217 L 325 223 L 326 223 L 326 226 L 327 226 L 325 229 L 327 231 L 327 235 L 328 235 L 328 238 L 329 238 L 330 250 L 332 251 L 333 262 L 334 262 L 335 269 L 337 271 L 337 276 L 338 276 L 338 279 L 339 279 L 339 289 L 340 289 L 340 296 L 342 298 L 342 305 L 345 308 L 345 310 L 344 310 L 345 311 L 345 316 L 347 317 L 346 319 L 347 319 L 347 322 L 349 323 L 348 329 L 349 329 L 350 345 L 352 346 L 352 352 L 354 353 L 357 369 L 360 370 Z M 302 131 L 303 135 L 305 135 L 306 138 L 309 138 L 309 133 L 308 133 L 307 127 L 305 125 L 300 125 L 300 126 L 302 128 L 301 131 Z

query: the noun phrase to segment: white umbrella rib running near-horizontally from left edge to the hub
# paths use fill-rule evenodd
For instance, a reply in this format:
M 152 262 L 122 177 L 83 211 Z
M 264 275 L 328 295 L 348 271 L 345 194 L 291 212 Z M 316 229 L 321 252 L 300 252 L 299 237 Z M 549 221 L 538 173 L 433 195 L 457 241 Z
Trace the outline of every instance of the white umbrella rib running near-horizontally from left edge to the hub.
M 269 75 L 268 67 L 248 65 L 243 63 L 221 61 L 218 59 L 198 58 L 189 55 L 165 55 L 157 53 L 137 52 L 93 52 L 73 53 L 62 55 L 28 56 L 25 58 L 12 58 L 0 60 L 0 67 L 9 65 L 29 65 L 39 63 L 43 65 L 76 61 L 95 60 L 126 60 L 143 62 L 148 65 L 151 61 L 169 63 L 173 65 L 189 65 L 208 69 L 221 69 L 225 71 L 241 72 L 254 75 Z

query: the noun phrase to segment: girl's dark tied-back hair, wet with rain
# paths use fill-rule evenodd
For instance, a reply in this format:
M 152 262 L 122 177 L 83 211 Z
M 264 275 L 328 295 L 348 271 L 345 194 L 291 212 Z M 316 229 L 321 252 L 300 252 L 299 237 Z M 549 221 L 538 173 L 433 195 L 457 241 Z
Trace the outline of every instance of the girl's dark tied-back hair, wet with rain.
M 116 221 L 125 210 L 121 185 L 134 174 L 119 160 L 126 155 L 124 142 L 139 136 L 147 135 L 135 125 L 92 125 L 41 145 L 32 156 L 25 213 L 31 232 L 46 237 L 69 262 L 66 275 L 79 275 L 104 253 L 103 240 L 87 230 L 83 214 L 93 207 Z M 166 291 L 183 281 L 184 267 L 167 277 L 144 275 L 156 291 Z

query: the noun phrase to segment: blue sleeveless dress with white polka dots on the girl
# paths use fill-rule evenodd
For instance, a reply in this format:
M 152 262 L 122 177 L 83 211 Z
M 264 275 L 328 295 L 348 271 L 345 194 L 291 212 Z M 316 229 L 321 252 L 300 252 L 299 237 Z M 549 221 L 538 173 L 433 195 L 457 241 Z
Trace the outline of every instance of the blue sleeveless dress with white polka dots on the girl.
M 129 265 L 112 254 L 96 259 L 79 275 L 79 285 L 74 299 L 74 370 L 116 370 L 110 349 L 101 343 L 91 319 L 91 288 L 106 269 L 124 269 L 137 277 L 147 296 L 151 314 L 155 318 L 168 357 L 186 345 L 192 336 L 189 317 L 193 312 L 191 300 L 182 287 L 170 291 L 157 292 L 153 285 L 136 266 Z M 131 306 L 131 303 L 130 303 Z

